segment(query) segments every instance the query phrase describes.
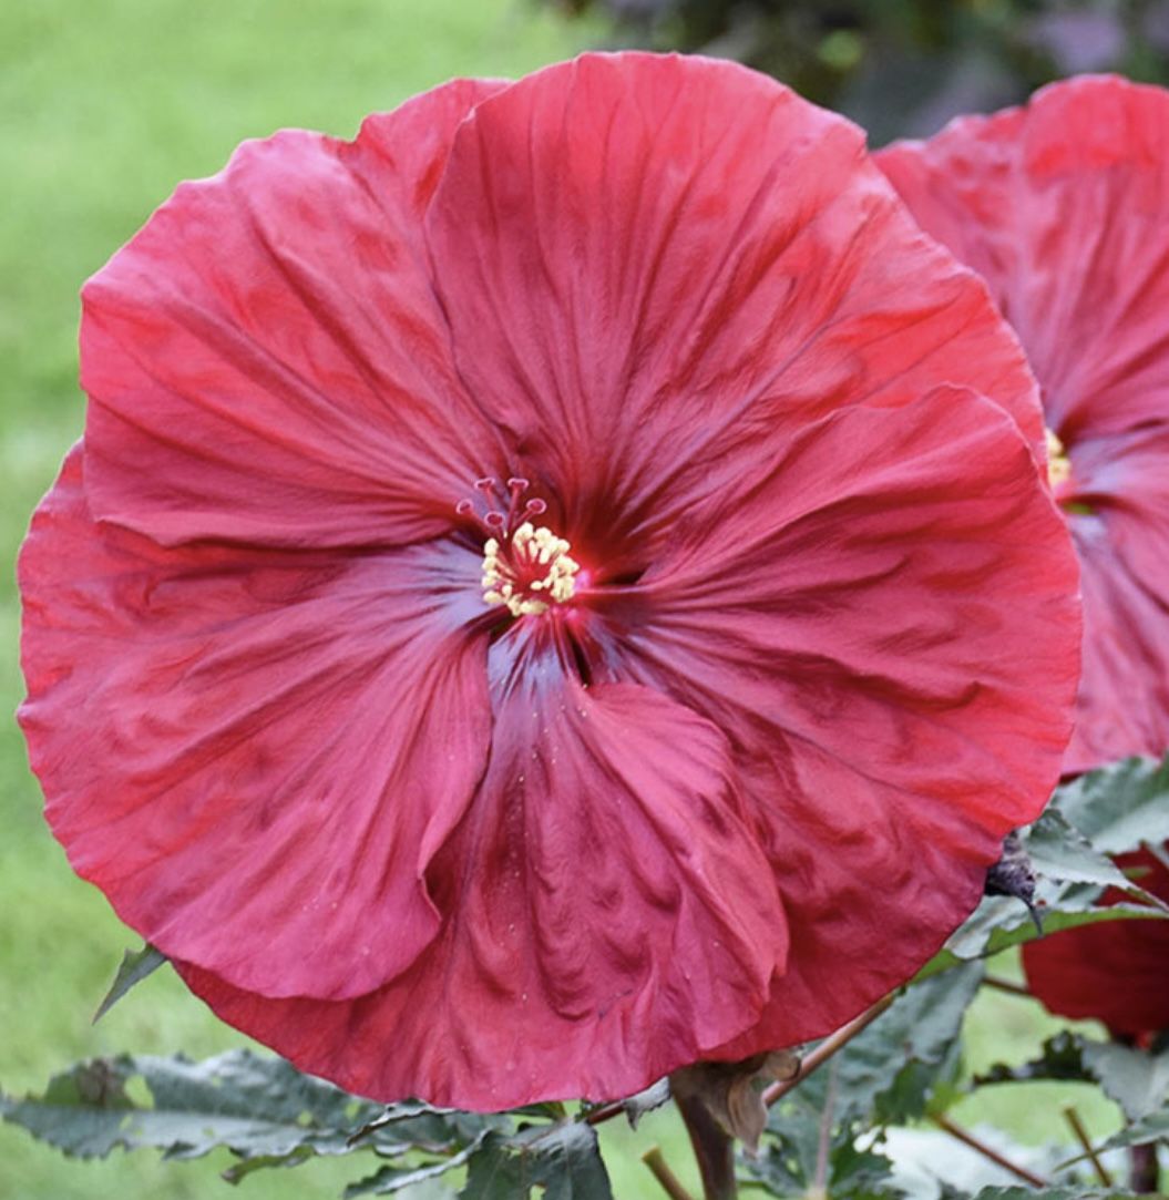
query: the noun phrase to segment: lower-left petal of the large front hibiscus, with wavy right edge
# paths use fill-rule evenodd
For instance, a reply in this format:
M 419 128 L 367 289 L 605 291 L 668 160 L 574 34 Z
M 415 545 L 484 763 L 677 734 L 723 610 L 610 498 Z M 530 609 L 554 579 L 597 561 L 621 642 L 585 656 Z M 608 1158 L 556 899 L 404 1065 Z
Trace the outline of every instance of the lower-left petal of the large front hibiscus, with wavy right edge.
M 486 762 L 476 556 L 162 548 L 92 521 L 82 460 L 20 558 L 54 833 L 163 953 L 370 991 L 436 936 L 424 874 Z

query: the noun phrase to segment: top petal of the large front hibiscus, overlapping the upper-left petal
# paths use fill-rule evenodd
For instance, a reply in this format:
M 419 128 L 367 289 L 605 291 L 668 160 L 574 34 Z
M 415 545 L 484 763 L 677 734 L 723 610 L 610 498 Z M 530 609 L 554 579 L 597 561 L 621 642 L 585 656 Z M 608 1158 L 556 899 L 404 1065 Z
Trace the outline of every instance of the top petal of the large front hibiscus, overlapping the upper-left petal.
M 940 379 L 1039 445 L 1017 342 L 863 133 L 733 64 L 586 55 L 521 80 L 460 127 L 427 222 L 460 371 L 571 497 L 570 539 L 613 512 L 669 536 L 724 461 L 766 472 L 777 414 Z

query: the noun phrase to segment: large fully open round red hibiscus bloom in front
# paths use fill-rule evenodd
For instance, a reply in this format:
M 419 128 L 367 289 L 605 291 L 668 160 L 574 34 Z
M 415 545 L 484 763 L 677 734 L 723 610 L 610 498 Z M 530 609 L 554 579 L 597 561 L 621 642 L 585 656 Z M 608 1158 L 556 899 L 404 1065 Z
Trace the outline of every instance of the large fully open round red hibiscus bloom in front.
M 302 1068 L 497 1108 L 821 1034 L 1045 800 L 1033 382 L 773 82 L 586 56 L 283 132 L 84 302 L 20 562 L 48 817 Z

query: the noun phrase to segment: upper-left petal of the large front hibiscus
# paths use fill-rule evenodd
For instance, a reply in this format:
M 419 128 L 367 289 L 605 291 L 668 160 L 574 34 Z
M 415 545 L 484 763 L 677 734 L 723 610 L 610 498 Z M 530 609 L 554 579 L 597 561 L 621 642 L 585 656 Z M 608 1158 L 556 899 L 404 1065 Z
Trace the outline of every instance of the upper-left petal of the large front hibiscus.
M 496 434 L 450 361 L 420 210 L 460 82 L 355 142 L 288 130 L 182 185 L 85 287 L 96 516 L 163 544 L 433 535 Z

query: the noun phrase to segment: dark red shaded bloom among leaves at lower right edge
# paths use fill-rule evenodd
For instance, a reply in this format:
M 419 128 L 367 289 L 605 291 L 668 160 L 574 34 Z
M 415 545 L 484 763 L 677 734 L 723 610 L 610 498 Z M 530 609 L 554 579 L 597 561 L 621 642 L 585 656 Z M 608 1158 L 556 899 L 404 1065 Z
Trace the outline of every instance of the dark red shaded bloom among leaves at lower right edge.
M 1169 848 L 1169 847 L 1167 847 Z M 1169 901 L 1169 870 L 1146 850 L 1117 854 L 1145 890 Z M 1105 904 L 1123 893 L 1109 890 Z M 1054 934 L 1023 948 L 1031 991 L 1061 1016 L 1103 1021 L 1121 1037 L 1169 1030 L 1169 922 L 1121 920 Z

